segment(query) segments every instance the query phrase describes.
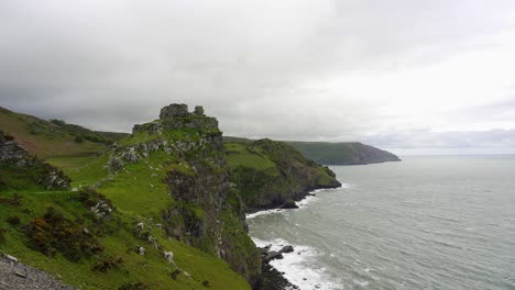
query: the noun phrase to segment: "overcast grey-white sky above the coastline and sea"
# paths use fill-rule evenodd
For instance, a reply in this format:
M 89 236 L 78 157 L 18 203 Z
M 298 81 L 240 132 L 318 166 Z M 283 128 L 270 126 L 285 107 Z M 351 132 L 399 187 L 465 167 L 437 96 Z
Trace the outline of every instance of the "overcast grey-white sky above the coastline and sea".
M 1 107 L 129 132 L 173 102 L 226 135 L 515 153 L 515 1 L 0 2 Z

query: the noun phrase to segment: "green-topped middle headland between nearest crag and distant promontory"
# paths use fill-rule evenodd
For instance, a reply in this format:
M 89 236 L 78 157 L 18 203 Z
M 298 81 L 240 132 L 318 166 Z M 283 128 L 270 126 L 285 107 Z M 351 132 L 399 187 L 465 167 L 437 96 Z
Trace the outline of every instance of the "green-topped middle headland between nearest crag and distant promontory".
M 292 207 L 313 189 L 341 186 L 329 168 L 283 142 L 227 143 L 226 152 L 230 179 L 249 211 Z

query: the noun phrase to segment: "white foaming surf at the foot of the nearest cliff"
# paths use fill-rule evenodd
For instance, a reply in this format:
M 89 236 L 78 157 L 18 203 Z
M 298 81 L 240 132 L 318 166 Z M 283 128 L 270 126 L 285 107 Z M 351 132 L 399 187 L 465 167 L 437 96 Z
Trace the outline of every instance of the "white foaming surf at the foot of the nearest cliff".
M 276 238 L 263 241 L 252 237 L 259 247 L 271 245 L 271 250 L 280 250 L 283 246 L 292 245 L 287 241 Z M 299 287 L 300 290 L 339 290 L 343 288 L 340 280 L 330 277 L 325 267 L 318 268 L 315 264 L 320 253 L 310 246 L 292 245 L 293 253 L 283 254 L 283 259 L 272 260 L 270 264 L 278 271 L 284 272 L 284 277 L 289 282 Z

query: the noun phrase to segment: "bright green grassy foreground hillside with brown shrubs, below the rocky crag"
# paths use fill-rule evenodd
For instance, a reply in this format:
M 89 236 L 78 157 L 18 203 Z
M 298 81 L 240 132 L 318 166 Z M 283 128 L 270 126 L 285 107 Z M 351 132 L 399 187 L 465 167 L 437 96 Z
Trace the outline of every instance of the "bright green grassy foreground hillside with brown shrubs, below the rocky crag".
M 235 271 L 252 278 L 260 265 L 248 261 L 259 258 L 259 252 L 245 234 L 237 192 L 229 191 L 227 203 L 215 213 L 208 205 L 179 199 L 168 183 L 175 171 L 191 177 L 185 180 L 221 185 L 212 180 L 223 178 L 223 163 L 218 161 L 223 150 L 206 142 L 217 132 L 140 132 L 107 149 L 96 142 L 75 144 L 62 125 L 9 112 L 2 118 L 10 122 L 10 132 L 19 130 L 25 142 L 37 143 L 36 153 L 58 157 L 72 188 L 78 190 L 46 189 L 37 178 L 0 188 L 1 252 L 81 289 L 250 289 Z M 42 124 L 42 132 L 29 133 L 31 123 Z M 67 146 L 68 142 L 73 143 Z M 156 142 L 161 145 L 151 147 Z M 96 154 L 77 161 L 88 150 Z M 39 170 L 29 166 L 19 177 Z M 209 183 L 200 186 L 206 189 Z M 219 226 L 219 242 L 218 233 L 211 235 L 211 223 Z M 196 226 L 207 232 L 197 234 Z M 229 264 L 219 257 L 218 245 Z M 163 252 L 173 252 L 174 263 Z

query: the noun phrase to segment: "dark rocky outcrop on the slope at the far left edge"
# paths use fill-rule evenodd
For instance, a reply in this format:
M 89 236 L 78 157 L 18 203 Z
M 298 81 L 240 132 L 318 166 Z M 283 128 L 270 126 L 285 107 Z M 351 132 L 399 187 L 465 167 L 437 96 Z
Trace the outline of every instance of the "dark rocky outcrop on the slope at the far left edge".
M 47 189 L 69 189 L 72 181 L 61 170 L 29 154 L 13 137 L 0 131 L 0 169 L 7 168 L 7 174 L 30 174 L 33 180 L 28 180 L 44 186 Z M 0 187 L 2 186 L 0 177 Z

